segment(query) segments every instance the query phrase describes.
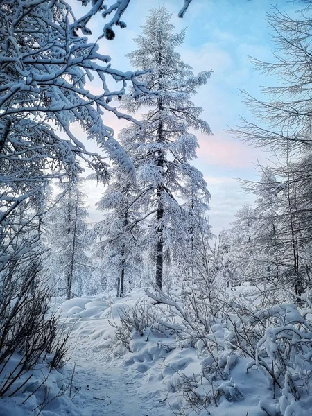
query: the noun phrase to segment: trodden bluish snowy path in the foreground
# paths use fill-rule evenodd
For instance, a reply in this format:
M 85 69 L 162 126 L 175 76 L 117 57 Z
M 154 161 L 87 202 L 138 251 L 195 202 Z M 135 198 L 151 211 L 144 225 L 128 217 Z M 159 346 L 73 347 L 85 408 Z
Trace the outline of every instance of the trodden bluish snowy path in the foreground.
M 76 363 L 73 385 L 78 388 L 73 403 L 83 416 L 172 416 L 162 397 L 144 392 L 141 374 L 125 369 L 121 360 L 89 348 L 86 334 L 77 340 L 71 356 Z

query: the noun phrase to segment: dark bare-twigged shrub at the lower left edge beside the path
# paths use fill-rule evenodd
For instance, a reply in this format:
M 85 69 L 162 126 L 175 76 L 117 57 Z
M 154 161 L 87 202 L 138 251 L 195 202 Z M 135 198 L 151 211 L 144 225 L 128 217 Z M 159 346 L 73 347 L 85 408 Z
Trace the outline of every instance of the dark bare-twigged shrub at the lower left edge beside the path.
M 26 379 L 37 363 L 46 361 L 51 369 L 64 363 L 68 333 L 49 310 L 49 290 L 39 274 L 38 256 L 27 261 L 13 257 L 0 270 L 0 397 L 23 388 L 21 377 Z M 7 371 L 12 356 L 19 359 Z

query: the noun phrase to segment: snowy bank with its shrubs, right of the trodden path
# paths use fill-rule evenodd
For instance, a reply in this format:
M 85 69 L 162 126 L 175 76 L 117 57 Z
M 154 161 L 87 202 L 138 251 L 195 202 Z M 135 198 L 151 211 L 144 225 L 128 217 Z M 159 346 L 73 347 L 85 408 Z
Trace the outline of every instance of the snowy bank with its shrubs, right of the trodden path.
M 310 416 L 309 311 L 294 304 L 252 310 L 257 295 L 249 286 L 229 295 L 227 311 L 214 317 L 200 315 L 199 300 L 196 316 L 178 290 L 102 294 L 61 310 L 77 342 L 87 340 L 90 360 L 110 354 L 112 365 L 144 379 L 147 399 L 175 414 Z

